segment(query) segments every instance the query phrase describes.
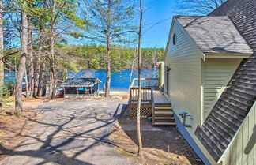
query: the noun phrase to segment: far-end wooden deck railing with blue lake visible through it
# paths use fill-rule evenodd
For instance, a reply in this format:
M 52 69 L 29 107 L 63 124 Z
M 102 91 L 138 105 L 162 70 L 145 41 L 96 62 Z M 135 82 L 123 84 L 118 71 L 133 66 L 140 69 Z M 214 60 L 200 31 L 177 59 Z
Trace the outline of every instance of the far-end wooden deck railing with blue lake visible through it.
M 149 87 L 149 88 L 158 88 L 159 87 L 159 78 L 141 78 L 141 87 Z M 134 78 L 130 87 L 138 86 L 138 78 Z

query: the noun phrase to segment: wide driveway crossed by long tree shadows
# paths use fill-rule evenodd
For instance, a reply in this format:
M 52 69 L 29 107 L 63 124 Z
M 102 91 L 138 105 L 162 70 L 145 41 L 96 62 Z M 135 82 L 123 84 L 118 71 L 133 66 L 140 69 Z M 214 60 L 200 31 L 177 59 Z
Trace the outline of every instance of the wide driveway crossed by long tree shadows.
M 37 108 L 43 120 L 2 164 L 138 164 L 134 157 L 117 153 L 107 140 L 122 103 L 126 100 L 43 103 Z

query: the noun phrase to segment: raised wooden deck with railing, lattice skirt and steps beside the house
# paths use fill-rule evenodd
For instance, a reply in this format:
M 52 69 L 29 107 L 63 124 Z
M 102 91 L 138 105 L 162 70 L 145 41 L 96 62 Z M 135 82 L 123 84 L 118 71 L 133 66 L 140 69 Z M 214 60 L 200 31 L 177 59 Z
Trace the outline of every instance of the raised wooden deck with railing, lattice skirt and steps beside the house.
M 145 79 L 146 82 L 151 79 Z M 155 81 L 155 80 L 153 80 Z M 138 87 L 131 85 L 129 96 L 129 114 L 130 118 L 137 117 Z M 141 87 L 141 118 L 152 117 L 154 126 L 175 126 L 174 113 L 171 108 L 171 102 L 160 93 L 156 86 Z

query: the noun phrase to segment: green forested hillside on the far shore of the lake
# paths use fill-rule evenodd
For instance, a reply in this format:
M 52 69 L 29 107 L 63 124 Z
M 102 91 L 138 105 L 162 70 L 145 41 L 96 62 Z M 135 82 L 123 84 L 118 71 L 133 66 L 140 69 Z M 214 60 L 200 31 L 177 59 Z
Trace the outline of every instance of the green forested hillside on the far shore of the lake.
M 96 45 L 71 46 L 58 45 L 56 60 L 63 69 L 105 69 L 104 62 L 106 47 Z M 153 64 L 163 60 L 164 48 L 144 48 L 142 53 L 142 67 L 151 69 Z M 134 61 L 135 55 L 135 61 Z M 111 51 L 111 68 L 114 70 L 130 69 L 137 64 L 137 51 L 124 47 L 113 47 Z M 137 67 L 137 65 L 134 65 Z

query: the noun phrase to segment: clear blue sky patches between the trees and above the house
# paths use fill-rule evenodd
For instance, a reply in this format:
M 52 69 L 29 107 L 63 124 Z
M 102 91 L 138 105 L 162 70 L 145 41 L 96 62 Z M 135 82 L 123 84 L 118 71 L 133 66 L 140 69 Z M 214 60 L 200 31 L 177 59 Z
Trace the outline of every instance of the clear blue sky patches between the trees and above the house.
M 137 3 L 139 0 L 136 0 Z M 143 1 L 143 36 L 142 47 L 166 47 L 168 34 L 171 28 L 171 20 L 174 15 L 189 15 L 190 12 L 183 9 L 181 0 L 144 0 Z M 188 4 L 185 4 L 187 6 Z M 137 4 L 137 13 L 135 22 L 139 23 L 139 9 Z M 193 14 L 193 13 L 192 13 Z M 67 44 L 85 45 L 96 44 L 89 39 L 75 39 L 72 36 L 62 36 Z M 137 47 L 136 45 L 127 47 Z M 19 39 L 13 40 L 13 47 L 20 47 Z

